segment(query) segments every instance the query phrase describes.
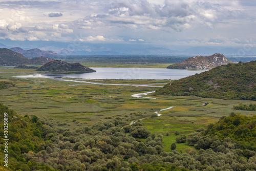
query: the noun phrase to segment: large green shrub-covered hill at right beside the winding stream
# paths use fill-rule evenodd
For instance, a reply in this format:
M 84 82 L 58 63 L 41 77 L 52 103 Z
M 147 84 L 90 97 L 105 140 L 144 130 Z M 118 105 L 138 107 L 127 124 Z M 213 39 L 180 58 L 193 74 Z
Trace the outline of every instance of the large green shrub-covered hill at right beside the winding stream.
M 166 84 L 156 95 L 251 99 L 256 95 L 256 61 L 216 67 Z

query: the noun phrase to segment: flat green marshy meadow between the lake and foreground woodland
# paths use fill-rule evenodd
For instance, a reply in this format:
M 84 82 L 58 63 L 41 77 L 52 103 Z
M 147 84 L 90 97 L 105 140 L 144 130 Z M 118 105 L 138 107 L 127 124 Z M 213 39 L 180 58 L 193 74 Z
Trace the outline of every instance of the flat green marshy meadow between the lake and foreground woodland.
M 0 90 L 0 103 L 9 106 L 19 115 L 36 115 L 55 121 L 56 125 L 75 129 L 82 125 L 120 117 L 127 124 L 143 119 L 144 126 L 151 132 L 163 135 L 165 151 L 170 151 L 170 144 L 177 135 L 188 135 L 191 132 L 217 122 L 220 117 L 231 112 L 252 115 L 250 111 L 234 111 L 233 105 L 245 100 L 207 99 L 196 96 L 159 96 L 158 99 L 131 97 L 133 94 L 151 92 L 156 87 L 108 86 L 72 81 L 59 81 L 49 78 L 16 78 L 13 76 L 35 73 L 34 69 L 6 69 L 1 67 L 0 81 L 15 83 L 15 87 Z M 17 72 L 17 73 L 11 73 Z M 18 73 L 22 72 L 22 73 Z M 69 78 L 67 78 L 69 79 Z M 74 80 L 74 79 L 70 79 Z M 75 79 L 81 80 L 81 79 Z M 158 84 L 163 86 L 168 80 L 99 80 L 86 81 L 99 83 L 123 84 Z M 150 96 L 149 97 L 155 97 Z M 152 118 L 154 112 L 175 106 L 160 112 L 161 116 Z M 143 140 L 142 140 L 143 141 Z M 178 144 L 178 151 L 189 147 L 185 143 Z

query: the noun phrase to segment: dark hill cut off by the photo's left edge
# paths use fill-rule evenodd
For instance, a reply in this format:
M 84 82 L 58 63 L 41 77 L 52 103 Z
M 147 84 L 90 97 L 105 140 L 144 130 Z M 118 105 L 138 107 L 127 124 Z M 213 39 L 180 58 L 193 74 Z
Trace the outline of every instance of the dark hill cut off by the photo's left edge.
M 17 66 L 20 64 L 30 64 L 31 61 L 20 53 L 7 48 L 0 48 L 0 65 Z

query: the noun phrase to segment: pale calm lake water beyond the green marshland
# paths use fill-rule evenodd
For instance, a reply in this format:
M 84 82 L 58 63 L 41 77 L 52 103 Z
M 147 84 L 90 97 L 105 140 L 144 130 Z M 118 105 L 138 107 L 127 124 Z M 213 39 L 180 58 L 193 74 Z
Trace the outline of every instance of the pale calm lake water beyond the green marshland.
M 92 68 L 96 72 L 82 74 L 33 74 L 19 78 L 81 78 L 81 79 L 180 79 L 208 70 L 175 70 L 164 68 Z

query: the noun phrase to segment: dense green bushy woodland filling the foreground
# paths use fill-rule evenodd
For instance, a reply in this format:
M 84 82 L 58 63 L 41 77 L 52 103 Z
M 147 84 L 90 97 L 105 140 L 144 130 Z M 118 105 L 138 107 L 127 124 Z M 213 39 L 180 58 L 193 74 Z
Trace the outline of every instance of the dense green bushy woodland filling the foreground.
M 231 113 L 177 137 L 177 143 L 191 146 L 184 152 L 175 143 L 172 152 L 164 152 L 162 135 L 141 121 L 129 125 L 116 116 L 70 130 L 51 118 L 21 117 L 3 104 L 0 111 L 8 113 L 11 170 L 256 170 L 256 116 Z M 1 115 L 1 135 L 3 120 Z M 0 143 L 3 156 L 2 137 Z

